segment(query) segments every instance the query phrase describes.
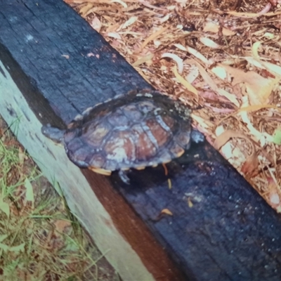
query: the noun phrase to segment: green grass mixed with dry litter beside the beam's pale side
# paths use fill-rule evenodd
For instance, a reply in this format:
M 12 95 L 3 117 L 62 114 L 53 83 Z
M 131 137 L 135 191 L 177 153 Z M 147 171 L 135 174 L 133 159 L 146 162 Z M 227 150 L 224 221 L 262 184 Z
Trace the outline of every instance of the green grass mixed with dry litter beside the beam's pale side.
M 119 280 L 1 117 L 0 162 L 0 280 Z

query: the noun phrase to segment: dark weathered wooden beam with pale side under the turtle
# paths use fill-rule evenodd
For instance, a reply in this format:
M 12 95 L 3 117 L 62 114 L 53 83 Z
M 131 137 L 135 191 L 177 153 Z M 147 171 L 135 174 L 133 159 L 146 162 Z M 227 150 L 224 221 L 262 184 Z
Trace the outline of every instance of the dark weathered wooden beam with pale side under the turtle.
M 123 280 L 280 280 L 280 217 L 209 143 L 167 164 L 168 176 L 131 171 L 125 185 L 80 170 L 42 136 L 41 124 L 63 127 L 151 86 L 63 1 L 0 7 L 0 114 Z

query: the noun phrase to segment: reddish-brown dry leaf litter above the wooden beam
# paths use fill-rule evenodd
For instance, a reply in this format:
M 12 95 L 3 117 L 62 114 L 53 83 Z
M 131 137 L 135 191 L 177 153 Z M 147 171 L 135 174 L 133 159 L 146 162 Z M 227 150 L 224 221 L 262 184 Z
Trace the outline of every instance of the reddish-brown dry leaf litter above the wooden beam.
M 65 2 L 152 86 L 200 108 L 209 143 L 235 132 L 221 153 L 281 211 L 281 1 Z

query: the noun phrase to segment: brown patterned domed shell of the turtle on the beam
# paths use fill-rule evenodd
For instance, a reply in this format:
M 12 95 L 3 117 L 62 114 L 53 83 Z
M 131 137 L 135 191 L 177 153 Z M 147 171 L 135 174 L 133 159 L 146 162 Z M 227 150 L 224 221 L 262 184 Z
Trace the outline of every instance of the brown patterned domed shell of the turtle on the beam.
M 183 103 L 135 91 L 85 110 L 67 126 L 63 141 L 74 164 L 109 175 L 180 157 L 190 147 L 190 131 Z

